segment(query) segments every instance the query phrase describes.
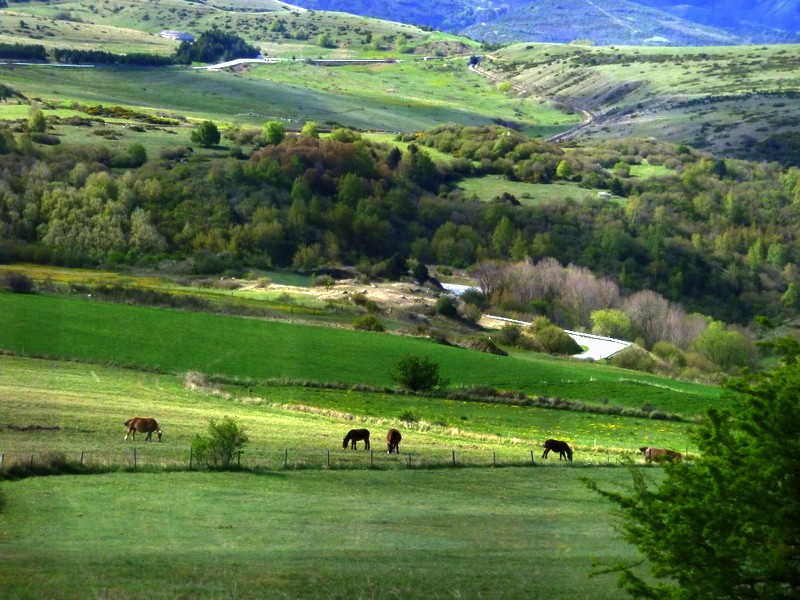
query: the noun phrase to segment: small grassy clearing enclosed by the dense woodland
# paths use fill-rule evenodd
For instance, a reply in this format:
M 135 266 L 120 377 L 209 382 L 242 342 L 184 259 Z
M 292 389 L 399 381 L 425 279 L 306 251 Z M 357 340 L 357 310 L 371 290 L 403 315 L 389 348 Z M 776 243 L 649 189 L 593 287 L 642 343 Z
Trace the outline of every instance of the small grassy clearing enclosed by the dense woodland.
M 554 200 L 572 199 L 577 201 L 597 199 L 597 190 L 582 188 L 574 183 L 525 183 L 509 181 L 497 175 L 469 177 L 458 182 L 467 198 L 477 198 L 489 202 L 507 192 L 521 204 L 534 206 Z

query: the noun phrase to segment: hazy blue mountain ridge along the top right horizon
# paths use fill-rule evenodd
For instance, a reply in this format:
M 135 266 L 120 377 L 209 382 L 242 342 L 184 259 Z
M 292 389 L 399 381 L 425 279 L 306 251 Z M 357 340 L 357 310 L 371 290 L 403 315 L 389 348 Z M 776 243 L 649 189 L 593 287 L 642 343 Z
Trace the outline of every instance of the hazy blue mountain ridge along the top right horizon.
M 484 42 L 708 46 L 800 43 L 800 0 L 295 0 Z

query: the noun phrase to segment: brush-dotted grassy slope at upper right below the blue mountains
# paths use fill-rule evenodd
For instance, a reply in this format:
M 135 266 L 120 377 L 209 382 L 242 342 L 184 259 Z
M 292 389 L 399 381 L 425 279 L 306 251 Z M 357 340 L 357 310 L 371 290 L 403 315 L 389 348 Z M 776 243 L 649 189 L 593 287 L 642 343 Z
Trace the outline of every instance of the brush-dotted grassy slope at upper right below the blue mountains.
M 590 48 L 519 44 L 482 67 L 595 114 L 578 139 L 655 138 L 795 164 L 800 47 Z

